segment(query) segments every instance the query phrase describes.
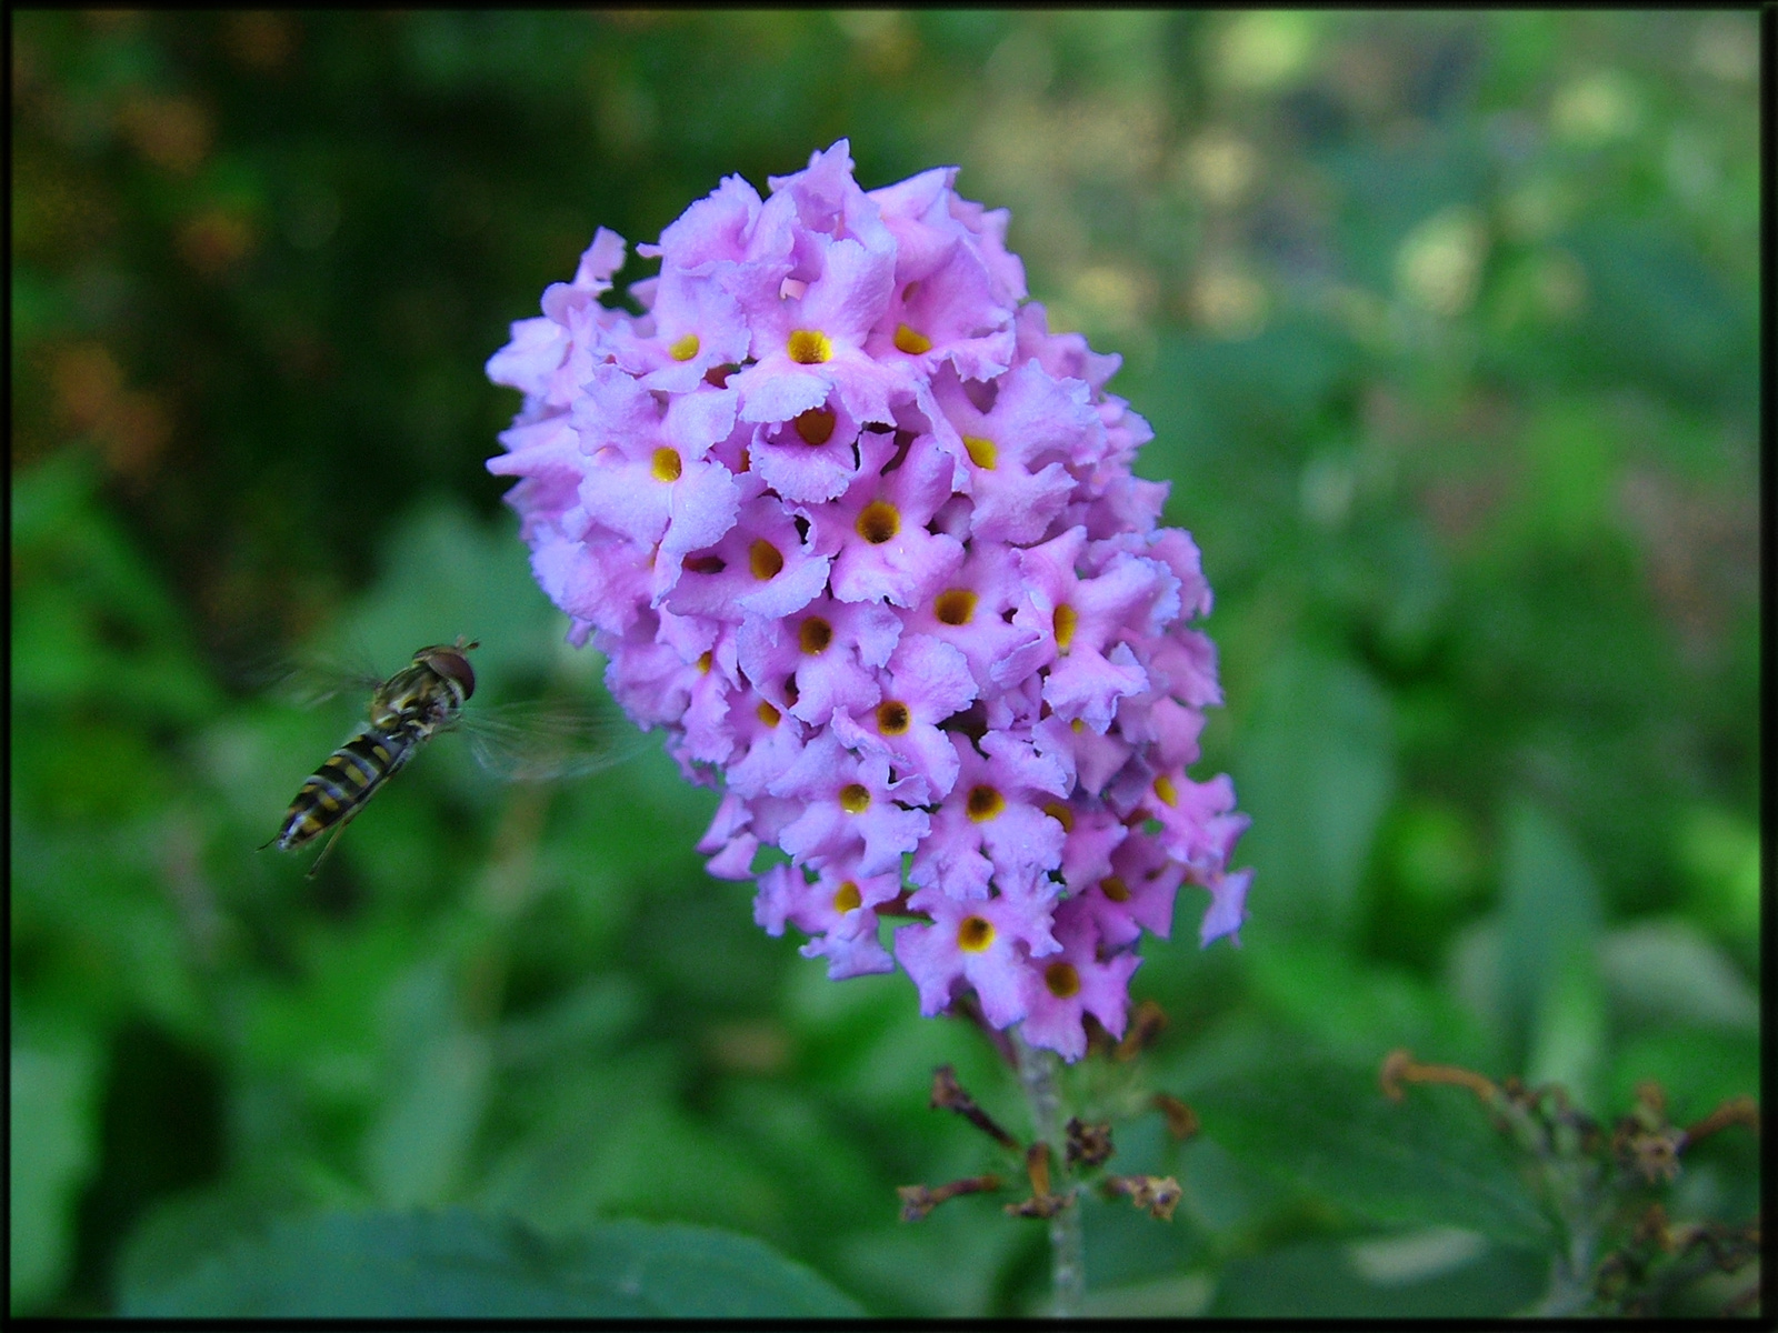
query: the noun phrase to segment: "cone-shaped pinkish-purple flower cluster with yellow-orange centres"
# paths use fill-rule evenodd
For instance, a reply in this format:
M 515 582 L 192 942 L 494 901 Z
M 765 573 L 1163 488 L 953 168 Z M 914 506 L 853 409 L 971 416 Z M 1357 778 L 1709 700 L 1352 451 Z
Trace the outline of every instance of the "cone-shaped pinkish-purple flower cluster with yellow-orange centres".
M 525 393 L 489 469 L 521 478 L 532 565 L 610 658 L 615 698 L 725 794 L 701 851 L 829 976 L 893 970 L 921 1013 L 974 988 L 1076 1059 L 1122 1034 L 1143 930 L 1181 882 L 1232 935 L 1250 871 L 1191 539 L 1131 475 L 1152 432 L 1118 357 L 1051 334 L 1006 212 L 955 169 L 864 192 L 848 144 L 731 176 L 601 304 L 601 229 L 487 363 Z M 878 917 L 907 919 L 894 954 Z

